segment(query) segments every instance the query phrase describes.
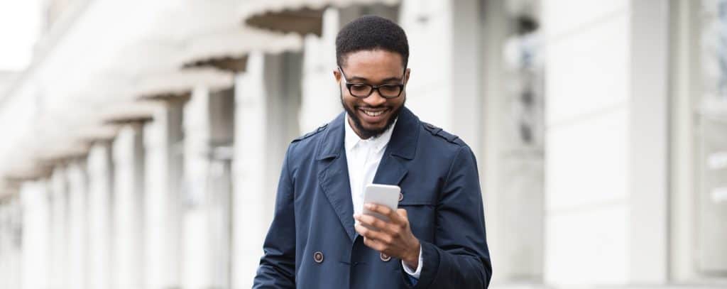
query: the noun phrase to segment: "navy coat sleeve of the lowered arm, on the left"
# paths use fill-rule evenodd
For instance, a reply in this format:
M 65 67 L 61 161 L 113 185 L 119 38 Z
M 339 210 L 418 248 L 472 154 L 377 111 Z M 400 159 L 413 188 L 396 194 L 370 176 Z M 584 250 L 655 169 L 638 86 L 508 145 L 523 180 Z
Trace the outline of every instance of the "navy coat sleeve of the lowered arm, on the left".
M 262 248 L 257 275 L 252 288 L 295 288 L 295 213 L 294 186 L 289 167 L 288 151 L 278 181 L 275 215 Z

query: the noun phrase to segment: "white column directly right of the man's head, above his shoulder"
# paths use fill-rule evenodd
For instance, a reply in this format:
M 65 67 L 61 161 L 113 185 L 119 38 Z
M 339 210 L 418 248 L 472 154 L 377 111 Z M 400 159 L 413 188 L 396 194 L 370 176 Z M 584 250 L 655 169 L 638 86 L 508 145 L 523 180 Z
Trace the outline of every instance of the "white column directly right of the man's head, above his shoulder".
M 400 12 L 410 48 L 406 105 L 473 148 L 481 132 L 480 6 L 475 0 L 409 0 Z

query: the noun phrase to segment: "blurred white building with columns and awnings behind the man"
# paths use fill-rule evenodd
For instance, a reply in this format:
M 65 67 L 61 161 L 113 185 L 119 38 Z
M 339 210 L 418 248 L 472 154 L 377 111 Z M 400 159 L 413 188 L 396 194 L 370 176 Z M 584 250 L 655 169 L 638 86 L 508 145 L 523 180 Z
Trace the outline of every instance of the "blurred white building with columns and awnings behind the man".
M 0 288 L 249 288 L 370 14 L 478 157 L 492 288 L 727 287 L 727 0 L 0 0 Z

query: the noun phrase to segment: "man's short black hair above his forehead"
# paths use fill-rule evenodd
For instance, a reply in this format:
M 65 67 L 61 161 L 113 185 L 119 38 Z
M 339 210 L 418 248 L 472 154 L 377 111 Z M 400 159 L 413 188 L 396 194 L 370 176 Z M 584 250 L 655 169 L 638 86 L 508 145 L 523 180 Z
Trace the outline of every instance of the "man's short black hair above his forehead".
M 377 49 L 400 54 L 404 67 L 409 63 L 409 41 L 401 26 L 384 17 L 358 17 L 336 36 L 336 63 L 343 67 L 348 53 Z

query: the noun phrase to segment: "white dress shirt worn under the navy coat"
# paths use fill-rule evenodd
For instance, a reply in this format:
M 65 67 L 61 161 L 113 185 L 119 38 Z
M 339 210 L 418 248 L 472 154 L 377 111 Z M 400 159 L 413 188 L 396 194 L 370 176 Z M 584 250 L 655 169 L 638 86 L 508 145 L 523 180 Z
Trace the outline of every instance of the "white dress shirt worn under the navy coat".
M 348 161 L 348 181 L 351 186 L 351 200 L 353 201 L 353 213 L 360 214 L 364 211 L 364 189 L 366 185 L 374 182 L 374 175 L 379 167 L 381 158 L 384 156 L 386 146 L 391 139 L 391 133 L 396 125 L 396 120 L 385 132 L 376 138 L 362 140 L 356 135 L 351 127 L 350 120 L 346 116 L 345 140 L 346 160 Z M 406 274 L 419 279 L 422 274 L 422 248 L 419 247 L 419 266 L 411 269 L 401 262 Z

